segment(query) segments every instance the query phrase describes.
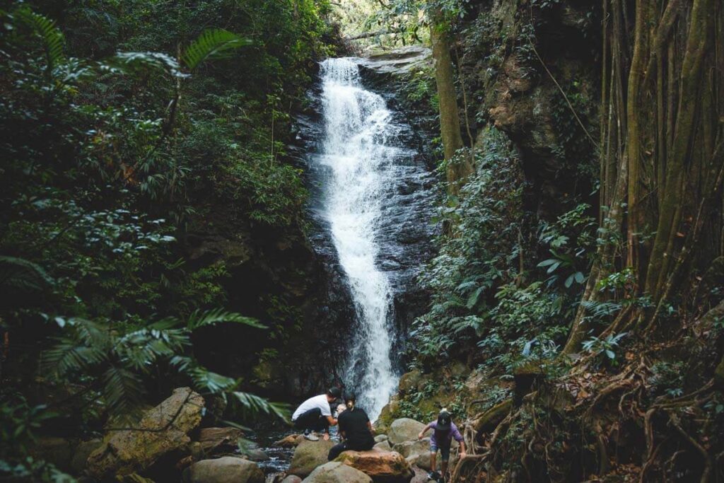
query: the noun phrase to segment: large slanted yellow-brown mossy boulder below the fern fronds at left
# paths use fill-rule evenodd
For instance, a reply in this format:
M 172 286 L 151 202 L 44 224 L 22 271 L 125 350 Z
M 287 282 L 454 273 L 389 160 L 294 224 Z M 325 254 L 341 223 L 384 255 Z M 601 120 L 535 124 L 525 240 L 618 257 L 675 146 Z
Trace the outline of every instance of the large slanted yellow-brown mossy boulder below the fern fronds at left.
M 159 406 L 146 411 L 135 427 L 109 432 L 88 457 L 88 472 L 96 479 L 143 471 L 163 455 L 186 448 L 188 432 L 201 422 L 203 398 L 179 387 Z

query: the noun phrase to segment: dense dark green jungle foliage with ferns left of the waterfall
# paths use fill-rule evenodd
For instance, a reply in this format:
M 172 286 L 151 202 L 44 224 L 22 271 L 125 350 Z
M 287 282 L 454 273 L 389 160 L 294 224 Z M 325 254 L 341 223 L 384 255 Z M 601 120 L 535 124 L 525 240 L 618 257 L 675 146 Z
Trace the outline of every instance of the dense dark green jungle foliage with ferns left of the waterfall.
M 243 421 L 284 408 L 207 370 L 224 263 L 188 256 L 219 206 L 302 230 L 290 111 L 334 52 L 326 0 L 0 4 L 0 473 L 61 479 L 32 446 L 190 385 Z M 252 310 L 249 308 L 249 310 Z M 245 311 L 242 308 L 242 311 Z M 39 456 L 39 458 L 38 458 Z

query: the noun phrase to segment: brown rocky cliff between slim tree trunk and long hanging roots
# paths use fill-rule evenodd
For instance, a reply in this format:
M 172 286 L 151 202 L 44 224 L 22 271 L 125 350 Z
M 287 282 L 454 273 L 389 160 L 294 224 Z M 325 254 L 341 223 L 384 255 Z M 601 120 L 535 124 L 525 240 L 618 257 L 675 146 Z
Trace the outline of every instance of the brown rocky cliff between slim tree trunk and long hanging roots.
M 489 125 L 508 135 L 529 182 L 526 207 L 539 217 L 555 217 L 560 201 L 592 191 L 599 10 L 596 1 L 481 1 L 460 35 L 475 144 Z

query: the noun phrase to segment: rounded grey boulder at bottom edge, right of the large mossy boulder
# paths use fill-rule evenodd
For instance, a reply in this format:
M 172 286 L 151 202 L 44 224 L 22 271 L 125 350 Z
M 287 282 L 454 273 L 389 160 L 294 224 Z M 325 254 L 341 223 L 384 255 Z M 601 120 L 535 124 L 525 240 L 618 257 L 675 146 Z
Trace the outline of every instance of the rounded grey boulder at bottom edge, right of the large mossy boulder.
M 264 483 L 264 473 L 251 461 L 224 456 L 202 460 L 183 472 L 184 483 Z

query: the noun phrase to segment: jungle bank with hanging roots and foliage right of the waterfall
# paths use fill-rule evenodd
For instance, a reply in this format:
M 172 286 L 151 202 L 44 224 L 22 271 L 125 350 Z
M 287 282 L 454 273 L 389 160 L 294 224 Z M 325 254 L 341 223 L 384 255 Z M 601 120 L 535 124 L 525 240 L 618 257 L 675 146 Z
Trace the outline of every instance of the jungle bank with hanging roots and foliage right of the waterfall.
M 448 186 L 392 417 L 468 418 L 455 482 L 720 481 L 722 4 L 382 4 Z

